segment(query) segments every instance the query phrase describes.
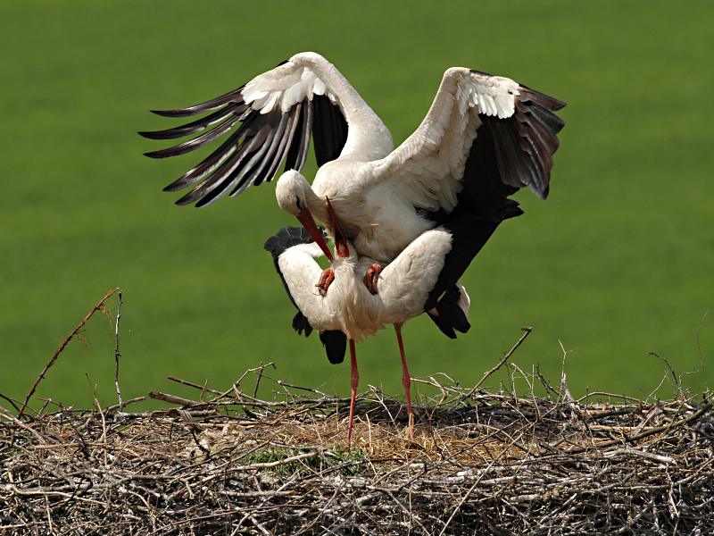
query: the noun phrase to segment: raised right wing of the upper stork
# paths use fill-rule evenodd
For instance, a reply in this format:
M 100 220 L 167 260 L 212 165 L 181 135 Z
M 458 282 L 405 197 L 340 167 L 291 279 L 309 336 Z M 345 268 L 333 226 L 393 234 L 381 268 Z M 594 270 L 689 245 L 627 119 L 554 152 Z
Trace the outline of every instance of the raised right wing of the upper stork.
M 414 206 L 451 212 L 464 183 L 495 171 L 515 192 L 547 197 L 565 103 L 513 80 L 452 68 L 419 128 L 376 163 Z M 468 189 L 468 185 L 467 185 Z

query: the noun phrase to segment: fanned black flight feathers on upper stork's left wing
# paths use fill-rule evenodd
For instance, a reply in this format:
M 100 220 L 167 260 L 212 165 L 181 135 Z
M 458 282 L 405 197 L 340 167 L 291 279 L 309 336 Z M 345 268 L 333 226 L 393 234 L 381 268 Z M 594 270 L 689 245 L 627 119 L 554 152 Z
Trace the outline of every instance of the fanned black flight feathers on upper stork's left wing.
M 209 205 L 228 192 L 231 197 L 237 196 L 250 186 L 273 180 L 283 162 L 286 171 L 301 171 L 307 160 L 311 138 L 314 139 L 320 166 L 335 160 L 345 147 L 347 122 L 339 106 L 332 104 L 328 96 L 315 95 L 312 100 L 306 98 L 286 113 L 282 113 L 279 106 L 269 113 L 260 113 L 245 104 L 241 94 L 244 88 L 241 86 L 186 108 L 154 110 L 154 113 L 165 117 L 210 113 L 179 127 L 139 132 L 141 136 L 151 139 L 184 138 L 201 133 L 176 146 L 145 153 L 151 158 L 184 155 L 230 132 L 211 155 L 163 188 L 176 191 L 198 183 L 177 201 L 178 205 Z M 240 121 L 242 123 L 237 126 Z M 266 128 L 269 129 L 267 132 Z

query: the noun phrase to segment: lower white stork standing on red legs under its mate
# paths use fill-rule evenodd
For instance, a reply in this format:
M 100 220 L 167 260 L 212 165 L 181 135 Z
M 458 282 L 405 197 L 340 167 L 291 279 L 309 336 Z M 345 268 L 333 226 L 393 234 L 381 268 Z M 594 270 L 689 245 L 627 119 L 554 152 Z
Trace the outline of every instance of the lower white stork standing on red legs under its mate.
M 522 214 L 519 205 L 504 197 L 490 196 L 493 211 L 462 215 L 450 219 L 414 239 L 380 273 L 379 292 L 374 294 L 362 284 L 374 259 L 358 255 L 331 214 L 336 231 L 334 281 L 325 293 L 316 291 L 322 255 L 319 245 L 299 228 L 280 230 L 265 243 L 273 255 L 276 269 L 288 296 L 298 309 L 293 320 L 295 331 L 309 335 L 320 331 L 320 339 L 331 363 L 340 363 L 345 355 L 345 336 L 350 342 L 350 417 L 347 442 L 352 437 L 354 405 L 359 382 L 355 342 L 394 324 L 400 356 L 402 383 L 406 395 L 409 429 L 413 435 L 411 375 L 406 363 L 402 325 L 424 312 L 447 336 L 469 330 L 469 295 L 457 281 L 471 260 L 486 244 L 502 220 Z M 499 200 L 500 199 L 500 200 Z M 344 335 L 341 335 L 344 334 Z

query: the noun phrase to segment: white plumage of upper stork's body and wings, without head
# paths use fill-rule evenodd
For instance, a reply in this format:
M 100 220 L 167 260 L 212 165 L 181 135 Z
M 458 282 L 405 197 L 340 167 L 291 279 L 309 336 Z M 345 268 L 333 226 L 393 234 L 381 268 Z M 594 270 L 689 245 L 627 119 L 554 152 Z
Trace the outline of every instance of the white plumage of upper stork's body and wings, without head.
M 313 94 L 327 95 L 340 106 L 349 125 L 345 148 L 320 167 L 312 182 L 317 203 L 310 208 L 328 224 L 319 205 L 328 197 L 358 253 L 386 263 L 434 227 L 419 209 L 453 209 L 481 124 L 478 113 L 511 116 L 518 88 L 507 78 L 451 68 L 419 129 L 396 149 L 378 115 L 320 54 L 295 54 L 251 80 L 243 94 L 261 113 L 278 105 L 287 110 Z

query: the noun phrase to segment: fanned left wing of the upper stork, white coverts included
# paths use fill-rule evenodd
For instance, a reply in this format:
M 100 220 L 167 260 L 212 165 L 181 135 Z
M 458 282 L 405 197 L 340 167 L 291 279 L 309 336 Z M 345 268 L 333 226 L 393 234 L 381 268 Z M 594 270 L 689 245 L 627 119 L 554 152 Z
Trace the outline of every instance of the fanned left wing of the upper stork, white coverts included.
M 203 206 L 226 194 L 237 196 L 273 180 L 281 163 L 285 170 L 302 170 L 311 138 L 318 165 L 336 159 L 345 147 L 347 122 L 340 108 L 344 89 L 329 83 L 323 74 L 329 68 L 334 69 L 318 54 L 297 54 L 205 103 L 154 111 L 165 117 L 206 114 L 169 130 L 139 132 L 152 139 L 193 137 L 147 156 L 184 155 L 222 140 L 211 155 L 164 189 L 192 188 L 178 205 Z

